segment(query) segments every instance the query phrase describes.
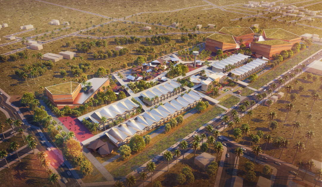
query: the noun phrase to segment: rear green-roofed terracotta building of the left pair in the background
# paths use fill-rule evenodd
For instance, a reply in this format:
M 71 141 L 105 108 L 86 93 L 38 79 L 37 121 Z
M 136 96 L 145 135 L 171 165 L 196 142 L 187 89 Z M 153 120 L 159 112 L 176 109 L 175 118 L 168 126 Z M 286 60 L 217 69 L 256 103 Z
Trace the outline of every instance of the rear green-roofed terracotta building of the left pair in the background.
M 254 31 L 250 27 L 223 27 L 219 33 L 232 35 L 236 42 L 243 40 L 243 43 L 253 41 Z

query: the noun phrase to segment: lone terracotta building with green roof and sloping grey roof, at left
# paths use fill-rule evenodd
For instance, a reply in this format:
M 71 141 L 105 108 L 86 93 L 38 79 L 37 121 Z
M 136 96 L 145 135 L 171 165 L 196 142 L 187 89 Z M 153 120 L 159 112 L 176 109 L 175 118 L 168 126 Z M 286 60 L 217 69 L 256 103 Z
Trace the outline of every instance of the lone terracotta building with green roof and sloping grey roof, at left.
M 106 78 L 93 78 L 88 80 L 88 82 L 91 82 L 92 85 L 91 87 L 87 86 L 87 89 L 84 89 L 81 83 L 72 81 L 45 87 L 47 98 L 58 109 L 66 105 L 75 108 L 86 103 L 97 92 L 102 91 L 103 86 L 109 85 L 109 79 Z

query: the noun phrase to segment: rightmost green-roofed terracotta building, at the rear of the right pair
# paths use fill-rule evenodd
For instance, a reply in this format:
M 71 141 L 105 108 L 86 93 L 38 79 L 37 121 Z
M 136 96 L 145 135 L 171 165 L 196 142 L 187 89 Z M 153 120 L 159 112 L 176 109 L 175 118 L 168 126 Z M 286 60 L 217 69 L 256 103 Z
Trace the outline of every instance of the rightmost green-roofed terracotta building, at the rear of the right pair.
M 298 43 L 301 41 L 301 37 L 293 34 L 287 30 L 284 29 L 264 29 L 263 30 L 263 37 L 265 40 L 273 40 L 273 39 L 280 39 L 286 42 L 292 43 L 294 45 L 295 43 Z

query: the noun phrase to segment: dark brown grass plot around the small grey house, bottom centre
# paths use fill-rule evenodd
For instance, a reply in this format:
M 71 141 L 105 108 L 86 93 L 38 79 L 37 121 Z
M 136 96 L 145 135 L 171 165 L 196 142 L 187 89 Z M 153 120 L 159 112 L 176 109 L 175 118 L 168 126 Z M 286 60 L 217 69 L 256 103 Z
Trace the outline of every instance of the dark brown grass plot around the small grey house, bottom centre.
M 202 151 L 199 149 L 196 151 L 196 156 L 201 154 Z M 211 153 L 213 156 L 217 156 L 217 153 Z M 218 154 L 218 157 L 221 157 L 221 153 Z M 160 181 L 162 183 L 162 186 L 213 186 L 215 183 L 216 175 L 215 176 L 209 176 L 205 170 L 200 169 L 199 166 L 197 166 L 194 163 L 194 154 L 189 154 L 188 156 L 185 156 L 184 160 L 178 161 L 178 163 L 174 166 L 172 166 L 169 169 L 169 172 L 165 172 L 158 176 L 154 181 Z M 176 182 L 177 176 L 182 173 L 182 168 L 189 166 L 192 169 L 192 173 L 194 174 L 194 183 L 189 184 L 185 183 L 183 185 L 180 185 Z M 151 183 L 148 183 L 147 186 L 153 186 Z

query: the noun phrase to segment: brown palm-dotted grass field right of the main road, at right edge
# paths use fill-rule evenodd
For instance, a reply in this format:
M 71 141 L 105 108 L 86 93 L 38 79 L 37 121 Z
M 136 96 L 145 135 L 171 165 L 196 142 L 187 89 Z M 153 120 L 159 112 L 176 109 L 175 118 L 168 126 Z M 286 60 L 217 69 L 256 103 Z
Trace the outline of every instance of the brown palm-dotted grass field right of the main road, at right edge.
M 301 77 L 305 75 L 306 73 L 303 73 Z M 290 144 L 288 146 L 288 149 L 284 149 L 281 159 L 286 162 L 292 162 L 296 152 L 296 150 L 293 149 L 294 143 L 296 143 L 299 140 L 301 142 L 306 143 L 307 138 L 305 137 L 305 133 L 309 130 L 314 131 L 315 137 L 312 137 L 312 140 L 308 140 L 304 153 L 298 153 L 295 158 L 295 162 L 300 159 L 302 159 L 303 161 L 307 161 L 311 158 L 314 158 L 318 161 L 322 161 L 322 156 L 321 156 L 322 153 L 319 149 L 322 142 L 322 138 L 321 136 L 318 135 L 318 132 L 321 131 L 320 124 L 322 121 L 322 117 L 320 115 L 321 99 L 315 102 L 312 112 L 310 112 L 310 109 L 313 103 L 310 97 L 311 92 L 312 90 L 317 90 L 318 86 L 320 85 L 320 81 L 312 82 L 311 80 L 309 81 L 304 81 L 303 79 L 298 79 L 298 80 L 301 82 L 299 83 L 299 85 L 303 84 L 305 86 L 305 90 L 300 93 L 298 91 L 299 85 L 297 85 L 296 89 L 291 92 L 291 93 L 296 93 L 298 95 L 298 98 L 294 102 L 292 102 L 295 107 L 291 112 L 289 112 L 286 122 L 284 122 L 287 115 L 287 111 L 284 108 L 286 105 L 284 104 L 284 100 L 285 100 L 285 96 L 284 96 L 283 98 L 279 99 L 277 103 L 272 105 L 269 110 L 269 112 L 271 111 L 276 112 L 277 114 L 276 121 L 278 122 L 278 127 L 274 130 L 272 130 L 271 128 L 270 129 L 267 128 L 269 124 L 269 119 L 267 117 L 268 107 L 259 105 L 258 109 L 254 110 L 255 114 L 251 117 L 250 124 L 249 124 L 251 131 L 248 134 L 256 134 L 257 131 L 261 130 L 266 134 L 270 134 L 273 139 L 280 136 L 283 138 L 286 138 L 287 140 L 290 141 Z M 292 83 L 292 85 L 294 87 L 294 83 Z M 282 91 L 284 92 L 284 90 Z M 290 96 L 288 95 L 286 103 L 289 103 L 289 97 Z M 295 111 L 298 109 L 300 109 L 302 112 L 297 117 Z M 313 118 L 310 119 L 309 121 L 307 118 L 308 114 L 313 115 Z M 242 117 L 242 121 L 240 124 L 248 123 L 248 118 L 249 118 L 248 115 L 246 115 L 246 117 Z M 294 128 L 292 125 L 295 123 L 295 120 L 299 121 L 302 127 L 299 129 L 296 129 L 294 138 L 292 139 L 292 135 L 294 132 Z M 240 126 L 240 124 L 237 126 Z M 229 132 L 232 132 L 232 130 L 229 130 Z M 227 135 L 226 132 L 225 134 Z M 233 138 L 232 135 L 230 135 L 230 137 Z M 237 139 L 237 142 L 242 143 L 242 138 L 243 138 L 243 135 L 241 138 Z M 249 146 L 248 137 L 245 138 L 245 144 Z M 260 141 L 259 145 L 261 146 L 262 149 L 264 149 L 265 144 L 263 143 L 263 141 Z M 281 151 L 282 149 L 277 149 L 274 156 L 279 157 L 279 155 L 281 154 Z M 271 156 L 274 154 L 274 148 L 271 143 L 267 146 L 265 154 L 268 154 Z

